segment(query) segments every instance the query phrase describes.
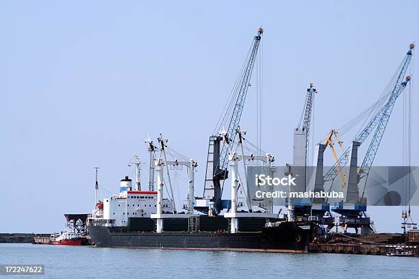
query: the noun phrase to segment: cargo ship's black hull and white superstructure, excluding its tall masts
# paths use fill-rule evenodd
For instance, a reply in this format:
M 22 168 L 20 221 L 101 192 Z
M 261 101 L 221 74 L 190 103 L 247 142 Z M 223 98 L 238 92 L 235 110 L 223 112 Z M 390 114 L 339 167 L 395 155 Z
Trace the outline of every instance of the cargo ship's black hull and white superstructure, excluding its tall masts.
M 164 199 L 158 232 L 157 191 L 131 190 L 128 177 L 120 183 L 120 194 L 103 200 L 102 215 L 88 219 L 88 233 L 99 247 L 307 252 L 316 230 L 314 222 L 255 212 L 236 213 L 238 228 L 232 232 L 226 214 L 173 213 L 171 201 Z

